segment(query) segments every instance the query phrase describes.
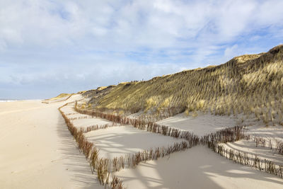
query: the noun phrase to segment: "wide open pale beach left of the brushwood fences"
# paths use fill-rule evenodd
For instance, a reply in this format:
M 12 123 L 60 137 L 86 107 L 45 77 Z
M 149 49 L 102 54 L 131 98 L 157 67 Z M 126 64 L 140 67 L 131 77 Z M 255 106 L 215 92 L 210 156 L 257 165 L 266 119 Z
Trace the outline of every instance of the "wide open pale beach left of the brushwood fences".
M 101 188 L 57 108 L 0 103 L 0 188 Z

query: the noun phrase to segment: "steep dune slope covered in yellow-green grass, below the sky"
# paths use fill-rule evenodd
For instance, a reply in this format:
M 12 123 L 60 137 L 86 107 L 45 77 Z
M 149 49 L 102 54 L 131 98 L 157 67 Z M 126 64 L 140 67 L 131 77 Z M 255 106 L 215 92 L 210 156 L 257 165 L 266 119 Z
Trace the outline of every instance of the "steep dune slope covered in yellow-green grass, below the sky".
M 234 57 L 215 67 L 192 69 L 93 90 L 89 107 L 159 117 L 186 111 L 216 115 L 254 113 L 259 120 L 283 124 L 283 45 L 258 55 Z

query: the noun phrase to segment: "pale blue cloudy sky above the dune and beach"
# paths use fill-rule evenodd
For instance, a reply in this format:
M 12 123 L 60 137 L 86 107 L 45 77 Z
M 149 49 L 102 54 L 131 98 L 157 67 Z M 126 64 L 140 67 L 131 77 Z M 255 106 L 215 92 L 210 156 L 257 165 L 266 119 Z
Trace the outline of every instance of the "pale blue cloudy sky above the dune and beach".
M 282 0 L 0 0 L 0 99 L 42 99 L 267 52 Z

